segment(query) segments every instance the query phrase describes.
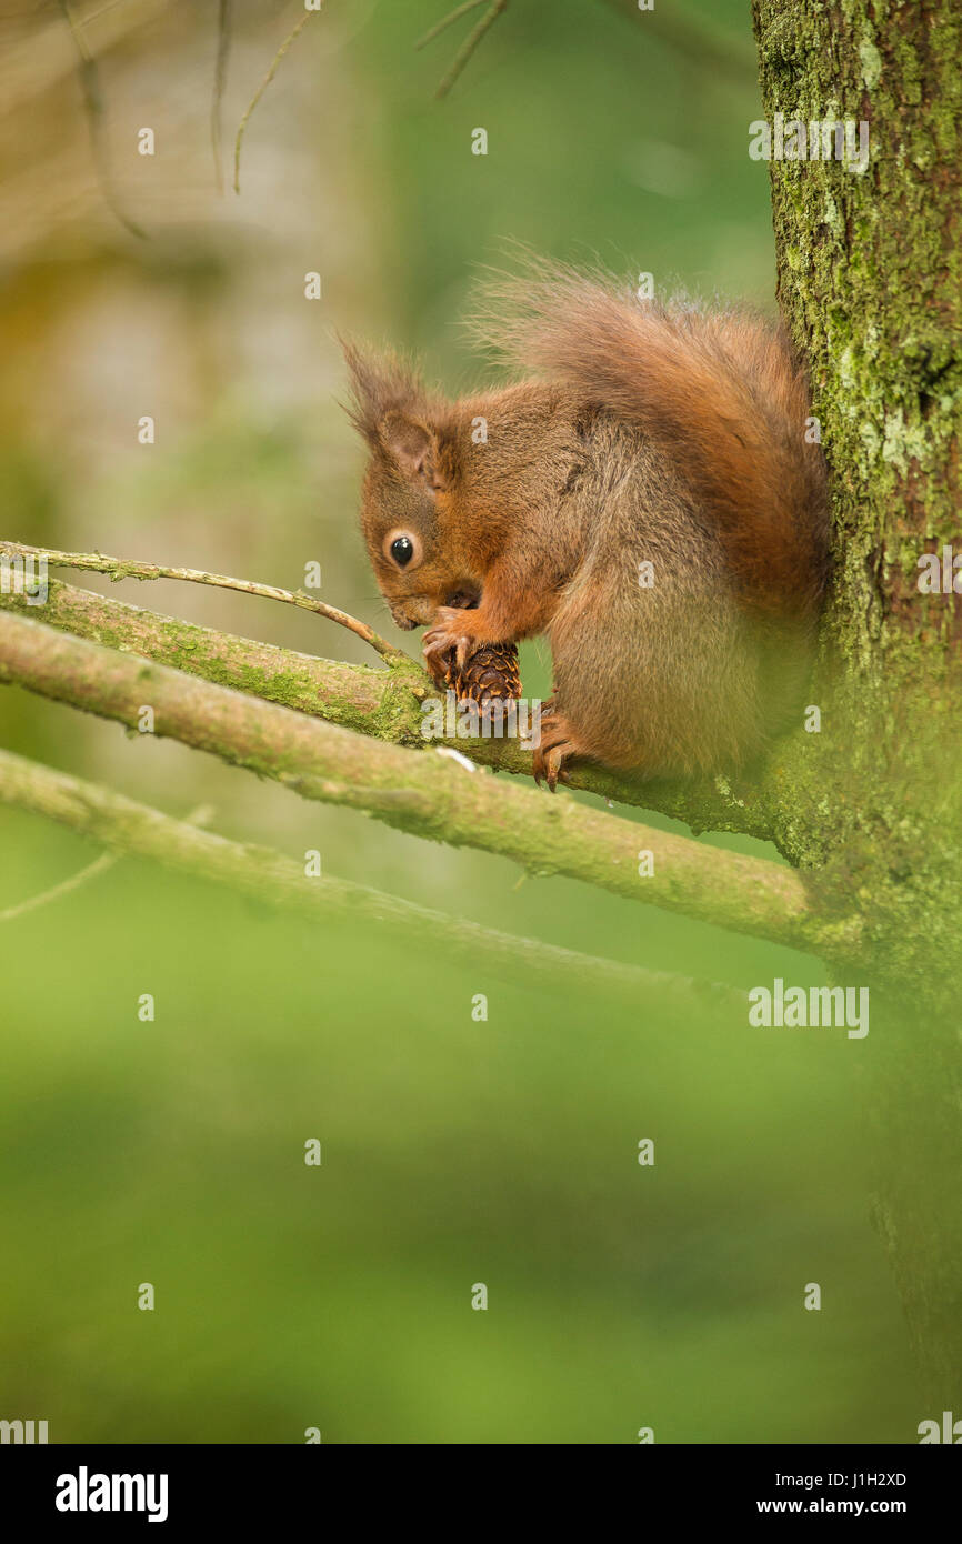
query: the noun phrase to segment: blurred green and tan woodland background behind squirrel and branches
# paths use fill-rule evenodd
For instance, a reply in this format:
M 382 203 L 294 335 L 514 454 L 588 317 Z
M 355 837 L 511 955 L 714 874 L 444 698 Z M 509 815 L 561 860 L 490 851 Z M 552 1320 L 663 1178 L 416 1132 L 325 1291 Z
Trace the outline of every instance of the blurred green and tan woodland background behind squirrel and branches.
M 355 530 L 335 327 L 418 352 L 448 391 L 477 383 L 460 317 L 511 239 L 772 303 L 747 5 L 513 0 L 437 102 L 474 19 L 415 52 L 445 0 L 332 0 L 250 119 L 239 198 L 218 195 L 210 151 L 218 8 L 74 9 L 113 196 L 148 239 L 105 201 L 60 8 L 8 6 L 9 539 L 292 588 L 317 560 L 324 599 L 414 652 Z M 298 14 L 233 8 L 227 161 Z M 153 157 L 136 153 L 145 125 Z M 111 593 L 369 662 L 351 635 L 263 601 Z M 542 647 L 523 669 L 544 692 Z M 318 848 L 326 872 L 517 934 L 741 988 L 823 979 L 803 956 L 561 879 L 519 886 L 506 862 L 9 689 L 0 741 L 171 814 L 208 801 L 227 835 Z M 94 855 L 3 809 L 0 852 L 0 911 Z M 871 1034 L 527 993 L 483 957 L 454 968 L 443 934 L 415 950 L 318 929 L 131 860 L 2 922 L 0 942 L 0 1417 L 48 1419 L 54 1442 L 300 1442 L 307 1427 L 324 1442 L 913 1441 L 925 1411 L 852 1115 Z M 136 1306 L 142 1282 L 154 1312 Z

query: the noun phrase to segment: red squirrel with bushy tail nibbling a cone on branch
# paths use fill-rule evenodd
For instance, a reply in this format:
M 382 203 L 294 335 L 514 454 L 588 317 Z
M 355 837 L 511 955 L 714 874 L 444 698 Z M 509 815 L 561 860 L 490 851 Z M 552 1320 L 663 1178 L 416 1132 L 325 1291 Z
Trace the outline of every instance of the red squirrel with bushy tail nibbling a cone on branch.
M 547 635 L 534 774 L 737 769 L 797 707 L 828 582 L 804 371 L 749 313 L 539 264 L 476 323 L 522 374 L 446 401 L 344 344 L 361 528 L 398 627 L 452 655 Z

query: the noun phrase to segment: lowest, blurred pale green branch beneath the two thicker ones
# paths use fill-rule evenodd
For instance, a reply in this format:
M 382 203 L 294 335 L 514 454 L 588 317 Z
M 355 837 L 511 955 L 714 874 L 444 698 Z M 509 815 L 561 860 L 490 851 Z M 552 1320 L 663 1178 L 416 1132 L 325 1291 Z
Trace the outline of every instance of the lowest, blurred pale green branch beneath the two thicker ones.
M 445 960 L 474 970 L 483 963 L 528 988 L 605 993 L 636 1010 L 653 1007 L 664 1011 L 673 1007 L 686 1014 L 701 1001 L 704 1007 L 727 1011 L 744 1022 L 747 997 L 730 987 L 641 970 L 537 939 L 513 937 L 347 880 L 327 875 L 309 879 L 300 863 L 270 848 L 198 831 L 195 823 L 162 815 L 97 783 L 54 772 L 6 750 L 0 750 L 0 800 L 57 820 L 116 851 L 229 885 L 258 902 L 283 906 L 315 922 L 361 917 L 400 937 L 434 945 Z M 102 863 L 103 857 L 97 858 L 97 865 Z M 85 872 L 93 874 L 97 865 Z

